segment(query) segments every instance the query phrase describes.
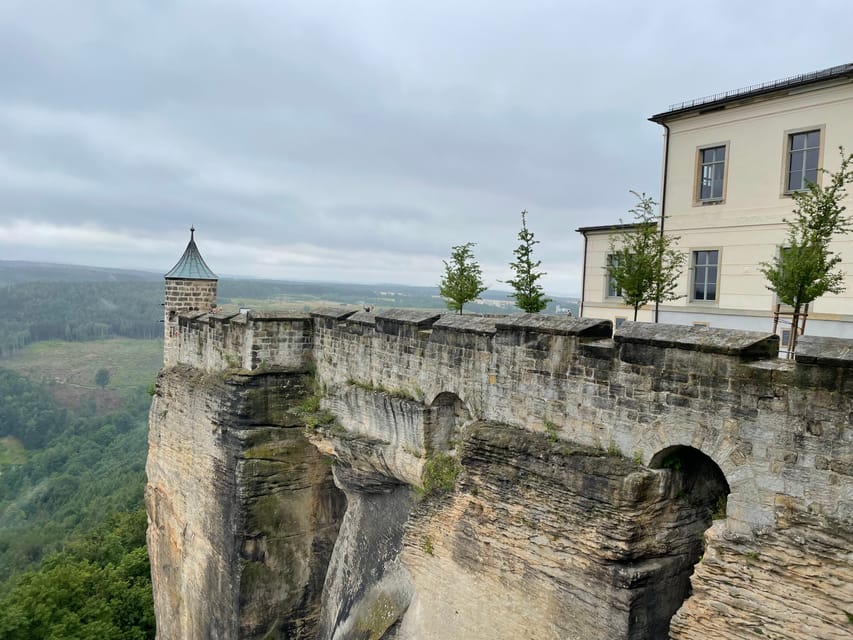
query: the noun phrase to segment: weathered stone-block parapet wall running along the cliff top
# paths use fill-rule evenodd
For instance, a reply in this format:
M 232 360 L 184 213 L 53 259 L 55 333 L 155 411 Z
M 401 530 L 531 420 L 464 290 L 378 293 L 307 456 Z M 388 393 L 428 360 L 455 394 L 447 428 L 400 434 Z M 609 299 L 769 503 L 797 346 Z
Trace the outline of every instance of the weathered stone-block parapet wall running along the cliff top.
M 353 386 L 427 406 L 449 393 L 472 419 L 645 463 L 695 447 L 726 475 L 729 523 L 743 533 L 772 526 L 780 500 L 853 521 L 853 341 L 806 336 L 790 362 L 772 334 L 628 322 L 611 338 L 607 321 L 553 316 L 324 309 L 179 325 L 181 363 L 311 366 L 327 402 Z

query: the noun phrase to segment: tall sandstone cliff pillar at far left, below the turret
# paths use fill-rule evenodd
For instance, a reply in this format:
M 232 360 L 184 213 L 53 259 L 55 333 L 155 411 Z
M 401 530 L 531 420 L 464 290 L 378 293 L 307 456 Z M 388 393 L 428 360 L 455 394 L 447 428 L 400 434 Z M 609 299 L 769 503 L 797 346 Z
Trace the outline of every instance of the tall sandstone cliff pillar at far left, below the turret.
M 313 638 L 344 502 L 293 410 L 303 376 L 164 370 L 151 406 L 158 638 Z

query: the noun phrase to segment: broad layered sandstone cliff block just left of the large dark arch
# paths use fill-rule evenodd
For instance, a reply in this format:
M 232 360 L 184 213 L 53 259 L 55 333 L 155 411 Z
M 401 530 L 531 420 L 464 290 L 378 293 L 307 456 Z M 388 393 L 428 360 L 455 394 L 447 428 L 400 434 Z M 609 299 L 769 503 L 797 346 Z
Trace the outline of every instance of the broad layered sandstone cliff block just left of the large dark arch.
M 488 424 L 462 463 L 407 526 L 398 637 L 666 637 L 710 522 L 672 472 Z

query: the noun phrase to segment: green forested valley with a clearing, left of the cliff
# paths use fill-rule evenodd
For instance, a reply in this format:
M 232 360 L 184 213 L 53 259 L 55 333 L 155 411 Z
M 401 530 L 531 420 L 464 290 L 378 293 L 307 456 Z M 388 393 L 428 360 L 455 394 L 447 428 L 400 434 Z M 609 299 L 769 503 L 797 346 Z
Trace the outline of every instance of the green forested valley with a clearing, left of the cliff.
M 162 296 L 139 279 L 0 285 L 4 640 L 155 636 L 143 490 Z

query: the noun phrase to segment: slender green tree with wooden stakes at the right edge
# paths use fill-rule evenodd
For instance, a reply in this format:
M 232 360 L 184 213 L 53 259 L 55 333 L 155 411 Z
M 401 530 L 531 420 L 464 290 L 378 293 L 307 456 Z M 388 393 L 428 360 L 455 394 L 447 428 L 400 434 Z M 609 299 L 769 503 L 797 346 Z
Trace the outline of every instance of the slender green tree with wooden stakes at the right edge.
M 833 237 L 853 230 L 853 221 L 844 215 L 846 207 L 841 204 L 847 185 L 853 182 L 853 154 L 845 156 L 840 147 L 839 152 L 838 171 L 821 169 L 829 176 L 826 187 L 810 182 L 804 191 L 791 194 L 794 218 L 784 220 L 788 225 L 786 246 L 772 261 L 761 263 L 767 288 L 794 308 L 789 353 L 797 346 L 803 306 L 825 293 L 842 293 L 845 289 L 844 272 L 838 268 L 841 256 L 829 249 Z

